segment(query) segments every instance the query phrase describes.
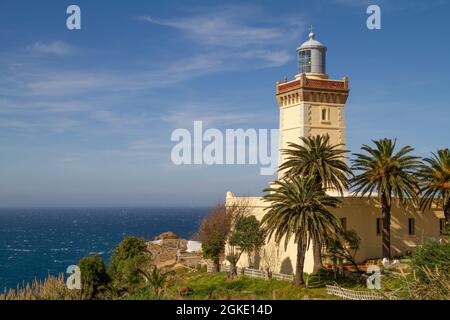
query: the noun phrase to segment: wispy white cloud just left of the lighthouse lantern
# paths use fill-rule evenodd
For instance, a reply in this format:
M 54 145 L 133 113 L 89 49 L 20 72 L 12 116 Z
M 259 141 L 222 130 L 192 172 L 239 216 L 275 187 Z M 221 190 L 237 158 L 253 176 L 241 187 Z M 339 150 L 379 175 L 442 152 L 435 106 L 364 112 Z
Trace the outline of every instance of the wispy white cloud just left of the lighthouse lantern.
M 292 58 L 287 45 L 298 41 L 305 27 L 305 19 L 300 15 L 273 19 L 253 6 L 215 8 L 182 18 L 139 19 L 178 30 L 197 49 L 203 50 L 206 62 L 215 61 L 216 67 L 223 69 L 286 64 Z

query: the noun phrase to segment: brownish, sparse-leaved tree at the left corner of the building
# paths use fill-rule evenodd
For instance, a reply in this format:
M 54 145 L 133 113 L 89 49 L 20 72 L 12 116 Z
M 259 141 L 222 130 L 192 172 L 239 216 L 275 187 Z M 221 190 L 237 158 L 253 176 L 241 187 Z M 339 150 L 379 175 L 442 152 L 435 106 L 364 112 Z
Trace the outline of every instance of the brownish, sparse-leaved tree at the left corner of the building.
M 246 203 L 236 203 L 228 207 L 219 204 L 200 224 L 198 238 L 202 243 L 203 257 L 213 261 L 213 272 L 220 271 L 220 258 L 225 253 L 225 245 L 234 220 L 246 214 Z

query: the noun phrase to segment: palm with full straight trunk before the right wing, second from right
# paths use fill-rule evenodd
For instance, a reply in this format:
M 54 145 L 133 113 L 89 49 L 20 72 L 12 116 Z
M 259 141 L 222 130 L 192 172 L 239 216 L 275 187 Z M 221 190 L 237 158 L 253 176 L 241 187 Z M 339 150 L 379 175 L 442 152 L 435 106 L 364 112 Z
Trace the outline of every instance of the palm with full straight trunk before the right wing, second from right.
M 418 180 L 415 176 L 422 163 L 418 157 L 409 155 L 414 149 L 410 146 L 395 152 L 396 140 L 381 139 L 373 141 L 376 148 L 363 145 L 367 154 L 354 154 L 352 169 L 359 171 L 351 179 L 355 194 L 361 197 L 372 196 L 375 191 L 381 203 L 382 255 L 391 257 L 391 206 L 393 198 L 406 206 L 418 200 Z

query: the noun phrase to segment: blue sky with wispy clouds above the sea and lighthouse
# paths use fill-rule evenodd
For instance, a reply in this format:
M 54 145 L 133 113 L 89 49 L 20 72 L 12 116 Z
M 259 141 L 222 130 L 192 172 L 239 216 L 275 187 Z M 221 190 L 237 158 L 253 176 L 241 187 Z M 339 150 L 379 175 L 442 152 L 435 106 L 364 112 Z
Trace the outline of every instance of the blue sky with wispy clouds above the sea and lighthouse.
M 65 27 L 78 4 L 82 30 Z M 382 29 L 366 28 L 378 4 Z M 277 128 L 275 82 L 315 27 L 349 76 L 348 147 L 449 146 L 447 1 L 0 3 L 0 206 L 197 206 L 258 195 L 259 166 L 175 166 L 173 129 Z

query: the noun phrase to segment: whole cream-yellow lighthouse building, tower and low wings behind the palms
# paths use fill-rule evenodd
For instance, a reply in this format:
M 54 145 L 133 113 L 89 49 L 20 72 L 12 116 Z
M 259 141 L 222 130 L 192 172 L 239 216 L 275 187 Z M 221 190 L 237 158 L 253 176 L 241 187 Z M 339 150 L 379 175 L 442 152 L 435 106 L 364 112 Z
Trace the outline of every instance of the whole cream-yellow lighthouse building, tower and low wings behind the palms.
M 328 134 L 332 144 L 346 144 L 345 103 L 349 95 L 349 79 L 331 80 L 326 73 L 327 48 L 315 39 L 314 33 L 298 49 L 298 74 L 291 81 L 276 84 L 276 100 L 280 108 L 280 150 L 299 137 Z M 279 163 L 284 155 L 279 154 Z M 282 173 L 280 173 L 282 175 Z M 337 194 L 336 194 L 337 196 Z M 236 197 L 227 193 L 226 204 L 249 205 L 253 214 L 261 219 L 268 203 L 260 197 Z M 364 261 L 381 256 L 381 206 L 376 197 L 361 198 L 344 194 L 339 208 L 331 210 L 348 230 L 355 230 L 361 238 L 356 258 Z M 391 253 L 408 253 L 426 238 L 438 238 L 444 215 L 442 211 L 418 212 L 393 205 L 391 222 Z M 293 273 L 297 248 L 291 240 L 284 245 L 269 242 L 256 261 L 242 257 L 239 265 L 270 268 L 275 272 Z M 312 244 L 306 254 L 305 269 L 313 270 Z

